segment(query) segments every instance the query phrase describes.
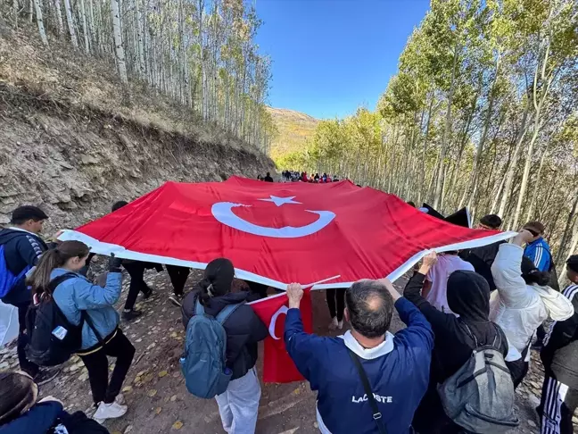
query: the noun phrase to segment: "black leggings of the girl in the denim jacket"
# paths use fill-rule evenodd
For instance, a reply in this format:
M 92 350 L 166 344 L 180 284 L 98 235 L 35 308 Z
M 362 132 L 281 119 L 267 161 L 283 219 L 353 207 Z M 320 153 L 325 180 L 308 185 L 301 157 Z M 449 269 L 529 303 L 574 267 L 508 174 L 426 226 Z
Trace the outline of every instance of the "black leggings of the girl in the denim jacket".
M 107 355 L 117 359 L 114 371 L 112 371 L 111 382 L 109 382 L 108 377 Z M 120 394 L 122 383 L 127 377 L 134 355 L 135 347 L 120 329 L 117 330 L 114 338 L 111 338 L 95 353 L 80 355 L 80 359 L 88 370 L 88 380 L 90 380 L 90 389 L 95 404 L 99 404 L 101 401 L 105 404 L 114 402 L 114 398 Z

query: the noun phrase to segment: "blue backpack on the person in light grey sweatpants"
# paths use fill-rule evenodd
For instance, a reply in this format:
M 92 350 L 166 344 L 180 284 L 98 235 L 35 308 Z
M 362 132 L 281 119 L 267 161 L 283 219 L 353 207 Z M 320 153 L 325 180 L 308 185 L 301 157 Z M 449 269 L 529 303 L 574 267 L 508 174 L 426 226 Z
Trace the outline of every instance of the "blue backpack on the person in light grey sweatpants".
M 197 300 L 186 326 L 185 353 L 180 359 L 186 389 L 194 396 L 213 398 L 227 390 L 232 372 L 227 369 L 227 333 L 223 323 L 239 305 L 227 305 L 216 318 Z

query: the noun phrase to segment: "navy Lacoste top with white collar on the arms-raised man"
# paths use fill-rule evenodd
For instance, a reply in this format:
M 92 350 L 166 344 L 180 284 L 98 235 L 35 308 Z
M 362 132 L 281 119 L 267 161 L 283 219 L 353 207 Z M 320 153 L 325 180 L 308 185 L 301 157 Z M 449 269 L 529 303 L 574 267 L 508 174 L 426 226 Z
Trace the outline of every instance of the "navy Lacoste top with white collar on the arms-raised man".
M 433 331 L 405 298 L 395 302 L 408 328 L 395 336 L 387 333 L 383 344 L 364 349 L 352 337 L 322 338 L 303 331 L 301 312 L 289 309 L 285 320 L 285 346 L 297 369 L 318 391 L 318 424 L 324 434 L 377 432 L 359 373 L 349 349 L 359 355 L 382 421 L 389 434 L 407 434 L 414 412 L 429 380 Z

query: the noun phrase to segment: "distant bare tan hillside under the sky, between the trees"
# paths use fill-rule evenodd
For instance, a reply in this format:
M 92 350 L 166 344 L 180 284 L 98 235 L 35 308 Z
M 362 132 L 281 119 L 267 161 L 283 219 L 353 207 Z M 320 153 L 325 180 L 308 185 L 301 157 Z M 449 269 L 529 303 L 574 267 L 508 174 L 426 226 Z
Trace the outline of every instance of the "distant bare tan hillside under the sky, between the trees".
M 268 107 L 268 111 L 279 130 L 271 146 L 270 156 L 273 160 L 277 161 L 280 156 L 299 150 L 308 139 L 313 138 L 318 119 L 293 110 Z

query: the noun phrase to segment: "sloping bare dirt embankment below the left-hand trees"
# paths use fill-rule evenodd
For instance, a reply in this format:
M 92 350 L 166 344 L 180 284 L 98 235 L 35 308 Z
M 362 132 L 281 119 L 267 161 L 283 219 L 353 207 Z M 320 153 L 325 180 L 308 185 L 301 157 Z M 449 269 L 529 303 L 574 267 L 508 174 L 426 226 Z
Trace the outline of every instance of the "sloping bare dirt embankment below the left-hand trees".
M 167 180 L 256 177 L 274 164 L 114 65 L 36 40 L 0 18 L 0 223 L 39 204 L 50 228 L 74 227 Z

